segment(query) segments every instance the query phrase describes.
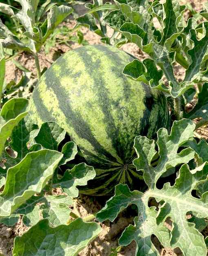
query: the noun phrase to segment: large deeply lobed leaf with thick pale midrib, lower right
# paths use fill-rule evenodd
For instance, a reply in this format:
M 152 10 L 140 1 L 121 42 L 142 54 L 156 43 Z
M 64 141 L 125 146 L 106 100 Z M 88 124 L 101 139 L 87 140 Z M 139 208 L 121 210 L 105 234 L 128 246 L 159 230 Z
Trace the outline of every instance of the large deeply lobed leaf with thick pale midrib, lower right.
M 119 184 L 115 188 L 115 195 L 107 201 L 106 206 L 96 215 L 99 221 L 106 219 L 113 221 L 118 213 L 129 204 L 137 205 L 138 217 L 134 220 L 135 225 L 130 225 L 125 229 L 119 239 L 119 244 L 128 245 L 135 240 L 137 243 L 136 255 L 138 256 L 149 254 L 159 256 L 159 252 L 151 241 L 153 234 L 157 236 L 163 246 L 179 247 L 184 255 L 206 256 L 207 249 L 204 237 L 197 229 L 201 225 L 203 226 L 204 218 L 208 217 L 208 193 L 207 190 L 203 191 L 200 198 L 196 198 L 192 195 L 192 191 L 197 189 L 200 184 L 207 183 L 208 162 L 204 162 L 204 164 L 194 169 L 190 169 L 187 164 L 195 157 L 194 147 L 190 148 L 191 144 L 189 145 L 187 142 L 189 138 L 191 139 L 193 130 L 194 125 L 186 119 L 174 122 L 170 135 L 164 128 L 161 128 L 157 133 L 157 147 L 160 158 L 155 167 L 151 166 L 152 159 L 157 153 L 154 141 L 148 140 L 146 137 L 136 137 L 135 150 L 138 158 L 135 159 L 134 164 L 138 171 L 143 171 L 144 180 L 149 188 L 148 191 L 145 193 L 130 191 L 127 185 Z M 177 153 L 181 145 L 188 146 L 188 148 L 183 149 L 187 150 L 186 153 L 183 150 Z M 207 147 L 207 144 L 204 145 Z M 205 150 L 205 148 L 203 149 Z M 174 184 L 170 185 L 168 182 L 159 189 L 161 175 L 170 166 L 176 166 L 177 164 L 182 165 Z M 149 205 L 152 198 L 158 202 L 157 207 Z M 195 216 L 192 219 L 193 222 L 188 222 L 186 218 L 188 212 Z M 164 226 L 168 217 L 173 220 L 171 230 Z M 201 219 L 201 224 L 199 224 L 198 218 Z

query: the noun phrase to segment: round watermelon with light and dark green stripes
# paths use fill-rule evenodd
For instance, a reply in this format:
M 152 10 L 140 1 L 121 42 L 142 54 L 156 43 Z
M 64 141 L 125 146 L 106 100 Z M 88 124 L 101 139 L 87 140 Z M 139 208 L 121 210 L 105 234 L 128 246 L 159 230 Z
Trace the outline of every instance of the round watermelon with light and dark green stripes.
M 111 195 L 115 185 L 144 188 L 133 165 L 137 135 L 154 138 L 169 127 L 166 97 L 122 74 L 135 57 L 108 45 L 88 45 L 63 54 L 35 86 L 30 112 L 35 124 L 55 121 L 80 149 L 96 177 L 80 193 Z

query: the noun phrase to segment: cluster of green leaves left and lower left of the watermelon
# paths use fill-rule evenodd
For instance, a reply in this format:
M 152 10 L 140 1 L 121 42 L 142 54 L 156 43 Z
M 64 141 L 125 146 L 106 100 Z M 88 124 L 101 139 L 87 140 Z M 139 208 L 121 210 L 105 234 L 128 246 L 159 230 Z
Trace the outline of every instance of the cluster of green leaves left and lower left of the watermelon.
M 28 103 L 27 99 L 13 98 L 0 112 L 0 186 L 4 186 L 0 222 L 11 226 L 22 216 L 24 224 L 31 227 L 21 238 L 15 238 L 13 255 L 39 255 L 41 249 L 47 255 L 76 255 L 101 231 L 95 222 L 80 218 L 69 222 L 69 206 L 79 193 L 76 186 L 86 185 L 95 177 L 95 170 L 84 163 L 67 168 L 77 146 L 66 141 L 66 132 L 54 122 L 40 128 L 33 125 L 27 114 Z M 60 166 L 65 166 L 64 175 L 59 173 Z M 59 188 L 65 193 L 53 193 Z M 77 237 L 77 232 L 83 231 L 84 235 Z

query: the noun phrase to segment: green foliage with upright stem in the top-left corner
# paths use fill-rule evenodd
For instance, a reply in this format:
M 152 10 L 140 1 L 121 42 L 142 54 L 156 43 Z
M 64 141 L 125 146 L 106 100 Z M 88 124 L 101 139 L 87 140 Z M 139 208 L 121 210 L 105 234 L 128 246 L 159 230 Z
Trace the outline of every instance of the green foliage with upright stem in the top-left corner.
M 62 32 L 63 29 L 59 28 L 56 30 L 56 27 L 72 12 L 73 9 L 68 6 L 68 1 L 16 0 L 1 2 L 0 42 L 6 49 L 5 52 L 11 56 L 16 56 L 16 54 L 22 51 L 31 52 L 35 58 L 37 77 L 39 79 L 41 70 L 38 52 L 45 45 L 45 50 L 49 53 L 49 47 L 55 46 L 58 43 L 56 35 Z M 45 18 L 46 15 L 47 18 Z M 66 35 L 66 33 L 62 33 L 62 35 Z M 81 32 L 78 33 L 78 38 L 68 36 L 61 43 L 71 39 L 86 44 Z M 20 67 L 16 61 L 15 65 Z

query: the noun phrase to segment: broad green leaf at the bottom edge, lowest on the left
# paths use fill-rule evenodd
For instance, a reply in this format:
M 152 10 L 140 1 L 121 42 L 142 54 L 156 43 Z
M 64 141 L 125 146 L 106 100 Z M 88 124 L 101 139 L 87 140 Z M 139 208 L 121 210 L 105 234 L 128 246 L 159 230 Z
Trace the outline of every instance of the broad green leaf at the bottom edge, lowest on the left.
M 14 241 L 13 255 L 47 255 L 75 256 L 101 232 L 95 222 L 84 222 L 77 218 L 69 225 L 51 227 L 49 220 L 44 219 L 31 227 Z

